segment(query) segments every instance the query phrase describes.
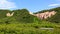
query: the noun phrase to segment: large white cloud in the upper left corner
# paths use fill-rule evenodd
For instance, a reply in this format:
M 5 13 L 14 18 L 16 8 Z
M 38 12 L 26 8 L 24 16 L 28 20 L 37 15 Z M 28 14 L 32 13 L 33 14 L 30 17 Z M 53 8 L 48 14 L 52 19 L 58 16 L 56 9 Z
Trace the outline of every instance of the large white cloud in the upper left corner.
M 14 2 L 10 2 L 7 0 L 0 0 L 0 9 L 11 9 L 17 8 Z

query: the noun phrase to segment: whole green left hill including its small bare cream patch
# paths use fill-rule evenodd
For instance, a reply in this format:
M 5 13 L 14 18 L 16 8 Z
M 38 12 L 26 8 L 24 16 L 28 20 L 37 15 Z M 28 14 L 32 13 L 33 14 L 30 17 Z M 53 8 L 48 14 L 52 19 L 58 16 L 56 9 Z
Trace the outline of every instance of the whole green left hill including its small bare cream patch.
M 1 23 L 21 22 L 21 23 L 34 23 L 40 21 L 36 16 L 29 13 L 27 9 L 18 10 L 0 10 Z

